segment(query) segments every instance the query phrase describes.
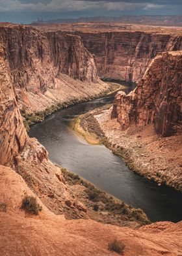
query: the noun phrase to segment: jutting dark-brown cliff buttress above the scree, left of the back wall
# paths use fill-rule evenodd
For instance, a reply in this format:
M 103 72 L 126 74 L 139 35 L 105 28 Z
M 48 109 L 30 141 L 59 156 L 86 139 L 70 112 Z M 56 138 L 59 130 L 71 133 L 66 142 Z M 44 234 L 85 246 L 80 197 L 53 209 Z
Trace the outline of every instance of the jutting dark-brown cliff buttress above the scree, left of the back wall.
M 49 40 L 51 61 L 59 73 L 85 82 L 98 80 L 94 57 L 83 46 L 79 36 L 60 32 L 49 32 L 46 36 Z

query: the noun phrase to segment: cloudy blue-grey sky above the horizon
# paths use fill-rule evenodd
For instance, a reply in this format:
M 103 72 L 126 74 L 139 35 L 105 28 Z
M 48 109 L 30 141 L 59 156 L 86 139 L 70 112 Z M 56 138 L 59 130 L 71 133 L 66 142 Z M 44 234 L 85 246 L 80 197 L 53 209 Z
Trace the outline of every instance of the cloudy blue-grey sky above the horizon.
M 182 15 L 182 0 L 0 0 L 0 22 L 122 15 Z

